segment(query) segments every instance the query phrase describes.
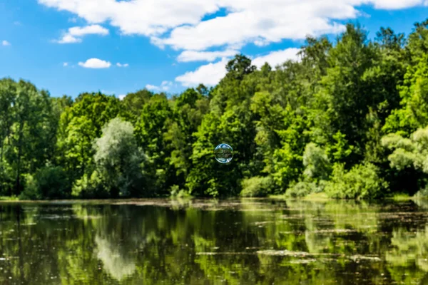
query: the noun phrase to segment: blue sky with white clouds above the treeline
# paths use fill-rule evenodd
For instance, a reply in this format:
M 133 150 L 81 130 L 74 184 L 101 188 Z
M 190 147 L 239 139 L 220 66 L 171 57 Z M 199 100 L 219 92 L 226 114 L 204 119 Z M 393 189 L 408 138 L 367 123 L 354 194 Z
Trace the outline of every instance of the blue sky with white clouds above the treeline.
M 0 0 L 0 78 L 53 96 L 214 86 L 237 53 L 298 60 L 305 36 L 412 32 L 428 0 Z

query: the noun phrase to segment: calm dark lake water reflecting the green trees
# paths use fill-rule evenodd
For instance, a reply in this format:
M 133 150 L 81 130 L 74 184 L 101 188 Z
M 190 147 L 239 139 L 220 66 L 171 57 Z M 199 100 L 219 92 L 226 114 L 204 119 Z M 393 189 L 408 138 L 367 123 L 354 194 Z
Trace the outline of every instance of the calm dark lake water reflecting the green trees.
M 428 284 L 428 204 L 0 204 L 0 284 Z

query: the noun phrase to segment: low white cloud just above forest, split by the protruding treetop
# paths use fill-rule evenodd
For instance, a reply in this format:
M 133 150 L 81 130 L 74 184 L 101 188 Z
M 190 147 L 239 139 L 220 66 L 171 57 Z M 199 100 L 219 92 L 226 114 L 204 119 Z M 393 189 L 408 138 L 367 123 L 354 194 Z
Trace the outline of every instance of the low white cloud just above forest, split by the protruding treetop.
M 300 51 L 299 48 L 286 48 L 281 51 L 272 51 L 265 56 L 259 56 L 253 58 L 252 63 L 258 68 L 262 67 L 266 62 L 270 66 L 277 66 L 284 63 L 287 60 L 299 61 L 300 58 L 297 53 Z M 230 58 L 223 58 L 221 61 L 216 63 L 208 63 L 204 66 L 200 66 L 195 71 L 189 71 L 175 78 L 175 81 L 180 82 L 183 86 L 198 86 L 203 83 L 205 86 L 215 86 L 221 78 L 226 75 L 226 64 Z

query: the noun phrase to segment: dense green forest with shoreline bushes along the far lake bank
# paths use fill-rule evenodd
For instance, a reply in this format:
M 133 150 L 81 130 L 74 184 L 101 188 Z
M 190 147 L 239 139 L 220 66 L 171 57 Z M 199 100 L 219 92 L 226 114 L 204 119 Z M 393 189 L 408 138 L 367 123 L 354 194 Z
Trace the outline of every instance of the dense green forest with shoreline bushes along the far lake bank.
M 428 195 L 428 19 L 373 40 L 347 24 L 299 56 L 258 69 L 240 54 L 217 86 L 123 100 L 3 78 L 0 196 Z

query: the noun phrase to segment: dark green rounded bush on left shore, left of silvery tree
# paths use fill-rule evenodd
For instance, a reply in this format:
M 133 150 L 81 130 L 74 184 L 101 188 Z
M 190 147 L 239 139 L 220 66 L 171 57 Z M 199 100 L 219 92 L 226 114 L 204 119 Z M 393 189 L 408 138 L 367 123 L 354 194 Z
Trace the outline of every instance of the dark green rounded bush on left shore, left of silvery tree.
M 70 196 L 71 187 L 62 167 L 47 166 L 26 175 L 26 187 L 21 199 L 58 199 Z

